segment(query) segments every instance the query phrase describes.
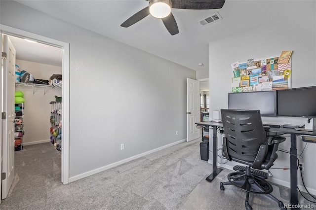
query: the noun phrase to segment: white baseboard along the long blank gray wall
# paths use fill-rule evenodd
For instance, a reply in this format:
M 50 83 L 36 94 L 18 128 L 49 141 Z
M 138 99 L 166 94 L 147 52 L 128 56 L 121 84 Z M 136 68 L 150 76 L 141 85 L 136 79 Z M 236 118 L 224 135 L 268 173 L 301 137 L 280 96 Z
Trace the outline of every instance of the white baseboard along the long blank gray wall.
M 184 140 L 179 140 L 179 141 L 176 141 L 176 142 L 173 142 L 173 143 L 170 143 L 170 144 L 161 146 L 161 147 L 159 147 L 159 148 L 156 148 L 156 149 L 153 149 L 153 150 L 150 150 L 150 151 L 147 151 L 147 152 L 144 152 L 144 153 L 141 153 L 141 154 L 138 154 L 138 155 L 135 155 L 135 156 L 126 158 L 126 159 L 124 159 L 124 160 L 120 160 L 120 161 L 118 161 L 118 162 L 109 164 L 109 165 L 107 165 L 107 166 L 103 166 L 103 167 L 100 167 L 100 168 L 98 168 L 98 169 L 94 169 L 94 170 L 91 170 L 91 171 L 88 171 L 88 172 L 85 172 L 85 173 L 82 173 L 82 174 L 79 174 L 79 175 L 75 175 L 75 176 L 69 177 L 69 182 L 73 182 L 73 181 L 79 180 L 79 179 L 81 179 L 81 178 L 88 177 L 88 176 L 90 176 L 90 175 L 94 175 L 94 174 L 97 174 L 97 173 L 99 173 L 99 172 L 103 172 L 103 171 L 105 171 L 105 170 L 111 169 L 111 168 L 113 168 L 113 167 L 119 166 L 119 165 L 121 165 L 121 164 L 127 163 L 127 162 L 129 162 L 129 161 L 135 160 L 135 159 L 137 159 L 137 158 L 140 158 L 140 157 L 149 155 L 149 154 L 151 154 L 151 153 L 157 152 L 157 151 L 159 151 L 159 150 L 168 148 L 168 147 L 170 147 L 170 146 L 174 146 L 174 145 L 176 145 L 176 144 L 179 144 L 179 143 L 182 143 L 182 142 L 185 142 L 185 141 L 186 141 L 186 139 L 184 139 Z

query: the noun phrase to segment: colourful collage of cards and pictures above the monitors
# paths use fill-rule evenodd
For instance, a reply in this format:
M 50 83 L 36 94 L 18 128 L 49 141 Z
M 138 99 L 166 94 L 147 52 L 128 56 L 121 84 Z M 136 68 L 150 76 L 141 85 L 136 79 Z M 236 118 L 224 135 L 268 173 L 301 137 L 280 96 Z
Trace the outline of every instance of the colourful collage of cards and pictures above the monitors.
M 288 89 L 291 75 L 291 50 L 279 57 L 233 63 L 232 92 Z

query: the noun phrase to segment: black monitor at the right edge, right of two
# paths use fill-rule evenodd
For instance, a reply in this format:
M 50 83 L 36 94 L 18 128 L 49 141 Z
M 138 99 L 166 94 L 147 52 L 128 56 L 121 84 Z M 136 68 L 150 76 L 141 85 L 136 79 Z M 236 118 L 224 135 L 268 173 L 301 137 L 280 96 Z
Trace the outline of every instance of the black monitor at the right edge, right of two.
M 277 91 L 277 115 L 316 117 L 316 86 Z

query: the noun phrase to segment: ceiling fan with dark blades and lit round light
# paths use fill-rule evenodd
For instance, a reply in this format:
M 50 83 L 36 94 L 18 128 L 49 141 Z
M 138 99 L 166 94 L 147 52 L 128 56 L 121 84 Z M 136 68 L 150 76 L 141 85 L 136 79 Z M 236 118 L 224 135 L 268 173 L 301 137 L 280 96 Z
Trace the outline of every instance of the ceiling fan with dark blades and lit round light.
M 130 27 L 149 14 L 160 18 L 171 35 L 179 33 L 177 22 L 171 12 L 175 9 L 220 9 L 225 0 L 147 0 L 149 6 L 132 15 L 121 27 Z

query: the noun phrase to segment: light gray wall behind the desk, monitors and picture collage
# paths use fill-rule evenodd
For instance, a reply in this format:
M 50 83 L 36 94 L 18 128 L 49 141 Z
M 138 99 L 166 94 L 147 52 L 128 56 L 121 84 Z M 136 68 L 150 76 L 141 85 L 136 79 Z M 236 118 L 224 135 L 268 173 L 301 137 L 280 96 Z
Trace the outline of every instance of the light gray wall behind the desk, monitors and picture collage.
M 284 1 L 284 3 L 291 3 Z M 231 64 L 247 59 L 279 56 L 282 50 L 293 50 L 292 87 L 316 85 L 316 1 L 305 1 L 306 10 L 293 14 L 292 18 L 278 20 L 273 24 L 221 39 L 209 44 L 210 59 L 210 118 L 213 110 L 227 108 L 227 93 L 231 92 L 231 80 L 234 77 Z M 265 122 L 279 124 L 306 124 L 307 118 L 264 117 Z M 289 136 L 289 135 L 287 135 Z M 221 142 L 219 142 L 221 145 Z M 303 151 L 305 143 L 297 139 L 298 153 Z M 289 139 L 280 145 L 289 151 Z M 304 181 L 312 193 L 316 193 L 315 160 L 316 144 L 309 143 L 305 148 L 301 162 L 305 163 Z M 276 168 L 289 168 L 289 155 L 278 152 Z M 227 163 L 231 167 L 235 163 Z M 272 169 L 272 180 L 289 186 L 290 171 Z M 302 185 L 299 175 L 299 185 Z M 302 189 L 303 187 L 301 187 Z

